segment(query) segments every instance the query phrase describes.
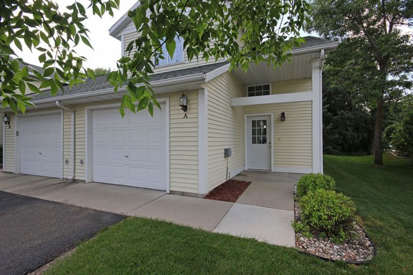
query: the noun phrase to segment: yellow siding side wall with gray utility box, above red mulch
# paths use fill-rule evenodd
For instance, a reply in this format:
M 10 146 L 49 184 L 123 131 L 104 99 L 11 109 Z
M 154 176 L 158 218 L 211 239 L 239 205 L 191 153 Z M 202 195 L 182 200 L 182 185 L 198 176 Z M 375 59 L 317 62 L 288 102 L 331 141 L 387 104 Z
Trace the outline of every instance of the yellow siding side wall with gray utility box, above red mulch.
M 228 171 L 245 167 L 244 107 L 231 107 L 231 98 L 239 97 L 245 87 L 234 75 L 226 72 L 205 83 L 208 91 L 208 190 L 226 179 L 224 148 L 231 148 Z M 235 176 L 235 175 L 231 175 Z

